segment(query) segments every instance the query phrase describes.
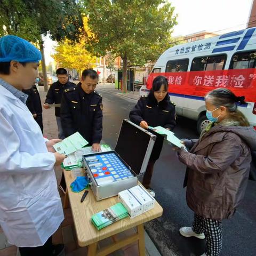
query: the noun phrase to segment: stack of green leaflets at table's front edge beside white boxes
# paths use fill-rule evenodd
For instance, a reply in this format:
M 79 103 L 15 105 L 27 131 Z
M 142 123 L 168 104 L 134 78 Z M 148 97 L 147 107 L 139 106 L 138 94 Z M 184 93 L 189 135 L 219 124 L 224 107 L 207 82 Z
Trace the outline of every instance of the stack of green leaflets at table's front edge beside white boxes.
M 128 216 L 128 212 L 122 203 L 117 203 L 108 209 L 92 215 L 92 223 L 98 229 L 105 228 L 110 224 L 124 219 Z

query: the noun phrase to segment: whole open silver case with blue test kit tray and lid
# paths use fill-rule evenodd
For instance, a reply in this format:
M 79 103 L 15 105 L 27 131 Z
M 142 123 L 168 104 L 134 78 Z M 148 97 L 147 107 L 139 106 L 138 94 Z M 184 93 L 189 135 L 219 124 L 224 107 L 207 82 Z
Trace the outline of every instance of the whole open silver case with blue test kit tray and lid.
M 83 165 L 97 201 L 137 185 L 146 167 L 156 135 L 124 119 L 115 150 L 83 156 Z

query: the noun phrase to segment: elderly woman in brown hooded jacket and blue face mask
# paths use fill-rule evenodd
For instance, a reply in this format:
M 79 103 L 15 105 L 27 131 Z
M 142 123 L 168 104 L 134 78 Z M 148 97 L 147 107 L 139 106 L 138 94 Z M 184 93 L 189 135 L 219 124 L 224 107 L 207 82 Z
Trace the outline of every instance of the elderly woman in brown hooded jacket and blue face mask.
M 186 237 L 206 238 L 202 255 L 219 256 L 222 245 L 222 219 L 229 219 L 241 203 L 250 172 L 251 150 L 256 150 L 256 131 L 237 110 L 244 97 L 220 88 L 205 97 L 206 116 L 212 121 L 190 152 L 179 150 L 187 165 L 185 185 L 187 204 L 195 212 L 192 227 L 182 227 Z

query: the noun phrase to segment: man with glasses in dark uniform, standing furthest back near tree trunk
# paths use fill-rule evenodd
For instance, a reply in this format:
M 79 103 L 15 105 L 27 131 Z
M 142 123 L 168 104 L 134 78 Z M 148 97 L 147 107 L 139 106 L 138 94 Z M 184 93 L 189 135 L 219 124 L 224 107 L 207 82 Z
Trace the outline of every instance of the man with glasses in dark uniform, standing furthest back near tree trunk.
M 53 83 L 47 92 L 46 100 L 43 105 L 45 109 L 50 108 L 49 104 L 60 104 L 63 91 L 76 86 L 76 84 L 68 81 L 68 72 L 65 68 L 58 68 L 56 75 L 58 81 Z M 55 107 L 55 116 L 58 125 L 59 139 L 65 139 L 60 121 L 60 107 Z

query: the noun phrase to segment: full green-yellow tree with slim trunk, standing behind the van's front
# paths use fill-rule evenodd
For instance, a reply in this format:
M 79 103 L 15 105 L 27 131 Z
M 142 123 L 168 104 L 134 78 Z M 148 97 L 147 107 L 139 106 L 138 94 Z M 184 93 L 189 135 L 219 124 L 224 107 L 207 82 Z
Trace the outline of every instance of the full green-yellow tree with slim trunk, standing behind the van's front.
M 166 0 L 86 0 L 89 38 L 95 52 L 107 51 L 123 59 L 123 84 L 127 63 L 141 65 L 156 60 L 169 47 L 177 24 L 174 7 Z M 126 86 L 123 86 L 126 91 Z

